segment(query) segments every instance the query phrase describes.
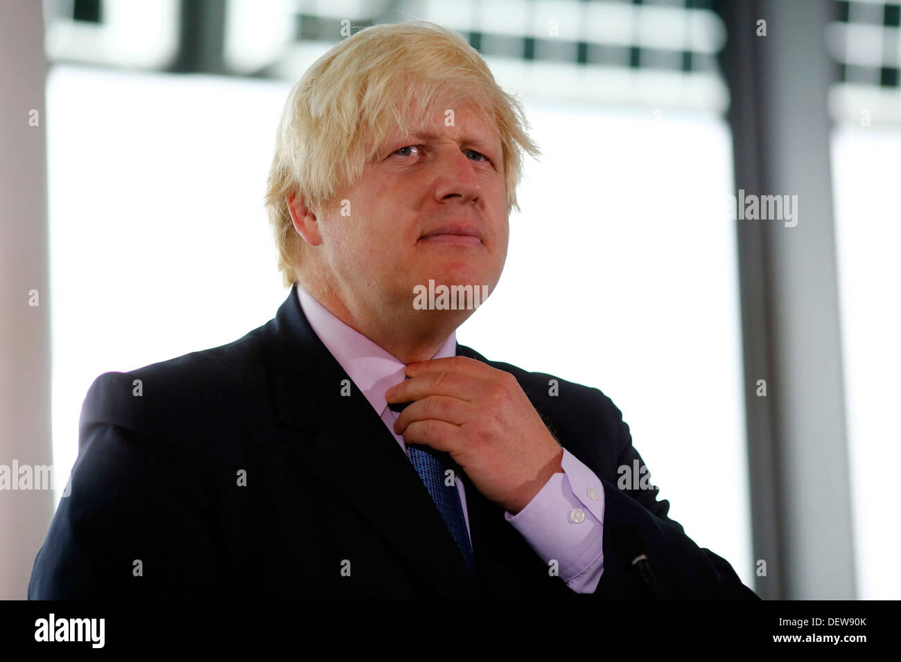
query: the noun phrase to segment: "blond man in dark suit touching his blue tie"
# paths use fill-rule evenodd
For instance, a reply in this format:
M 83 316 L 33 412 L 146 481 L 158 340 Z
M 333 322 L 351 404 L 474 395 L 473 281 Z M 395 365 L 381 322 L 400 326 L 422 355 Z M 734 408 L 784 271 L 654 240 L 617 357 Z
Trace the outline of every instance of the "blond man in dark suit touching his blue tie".
M 604 394 L 456 343 L 504 267 L 524 125 L 431 23 L 314 63 L 268 181 L 291 293 L 96 379 L 29 596 L 756 598 L 617 487 L 642 459 Z

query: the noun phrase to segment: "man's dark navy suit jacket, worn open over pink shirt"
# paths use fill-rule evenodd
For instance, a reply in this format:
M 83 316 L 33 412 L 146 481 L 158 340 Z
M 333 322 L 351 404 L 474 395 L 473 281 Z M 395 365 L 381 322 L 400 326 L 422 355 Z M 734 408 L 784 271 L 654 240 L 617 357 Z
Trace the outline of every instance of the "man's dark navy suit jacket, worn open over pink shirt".
M 460 474 L 478 565 L 470 579 L 378 414 L 352 382 L 341 396 L 349 378 L 295 290 L 240 340 L 96 378 L 71 494 L 35 559 L 29 598 L 577 597 Z M 655 491 L 617 488 L 617 467 L 643 463 L 609 398 L 562 379 L 551 396 L 557 377 L 459 344 L 457 354 L 512 373 L 601 479 L 604 573 L 583 599 L 651 598 L 630 565 L 639 552 L 668 598 L 757 597 L 667 517 Z

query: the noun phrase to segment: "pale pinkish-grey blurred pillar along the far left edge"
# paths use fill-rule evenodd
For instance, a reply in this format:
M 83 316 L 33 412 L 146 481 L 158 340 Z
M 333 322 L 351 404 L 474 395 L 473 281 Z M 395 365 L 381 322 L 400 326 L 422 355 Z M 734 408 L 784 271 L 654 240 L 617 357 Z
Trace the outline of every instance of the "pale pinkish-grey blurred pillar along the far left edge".
M 0 465 L 9 471 L 52 462 L 41 11 L 34 0 L 0 3 Z M 0 490 L 0 600 L 27 596 L 53 511 L 51 489 Z

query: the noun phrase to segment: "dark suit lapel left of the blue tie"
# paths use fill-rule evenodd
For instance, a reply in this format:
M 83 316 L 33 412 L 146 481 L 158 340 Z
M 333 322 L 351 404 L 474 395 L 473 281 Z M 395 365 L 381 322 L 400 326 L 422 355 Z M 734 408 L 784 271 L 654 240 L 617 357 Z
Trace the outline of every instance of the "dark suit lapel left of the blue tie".
M 277 443 L 286 461 L 329 485 L 440 594 L 478 597 L 422 480 L 310 327 L 296 286 L 263 333 Z M 342 386 L 350 395 L 341 395 Z

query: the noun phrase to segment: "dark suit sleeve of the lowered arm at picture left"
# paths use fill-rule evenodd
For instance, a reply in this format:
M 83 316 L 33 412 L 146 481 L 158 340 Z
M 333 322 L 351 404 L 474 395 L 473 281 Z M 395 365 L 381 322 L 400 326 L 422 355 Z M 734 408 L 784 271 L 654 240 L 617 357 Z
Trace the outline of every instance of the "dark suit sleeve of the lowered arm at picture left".
M 138 402 L 123 373 L 89 389 L 70 494 L 35 559 L 29 599 L 211 596 L 217 563 L 198 463 L 184 444 L 150 434 Z

